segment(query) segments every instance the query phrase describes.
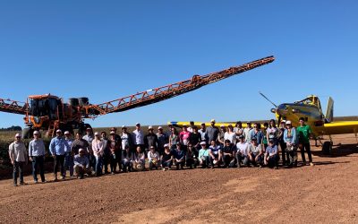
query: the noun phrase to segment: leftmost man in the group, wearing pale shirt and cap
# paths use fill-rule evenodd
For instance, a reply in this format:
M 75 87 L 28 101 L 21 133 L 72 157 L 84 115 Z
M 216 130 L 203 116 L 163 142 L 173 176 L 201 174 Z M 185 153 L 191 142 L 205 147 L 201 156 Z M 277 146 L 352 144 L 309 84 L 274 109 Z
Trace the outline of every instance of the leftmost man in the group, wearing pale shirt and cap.
M 16 134 L 15 141 L 9 145 L 9 157 L 13 164 L 13 185 L 17 186 L 17 173 L 19 173 L 20 185 L 25 185 L 22 168 L 27 162 L 28 153 L 25 144 L 21 141 L 21 134 Z

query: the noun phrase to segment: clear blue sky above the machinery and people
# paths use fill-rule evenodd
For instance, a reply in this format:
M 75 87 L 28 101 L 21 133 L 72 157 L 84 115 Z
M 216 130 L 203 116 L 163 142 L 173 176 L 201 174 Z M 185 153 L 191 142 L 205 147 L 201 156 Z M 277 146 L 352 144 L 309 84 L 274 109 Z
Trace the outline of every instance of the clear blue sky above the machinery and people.
M 98 104 L 264 56 L 276 61 L 94 126 L 272 118 L 316 94 L 357 115 L 356 1 L 1 1 L 0 98 Z M 0 126 L 23 126 L 0 114 Z

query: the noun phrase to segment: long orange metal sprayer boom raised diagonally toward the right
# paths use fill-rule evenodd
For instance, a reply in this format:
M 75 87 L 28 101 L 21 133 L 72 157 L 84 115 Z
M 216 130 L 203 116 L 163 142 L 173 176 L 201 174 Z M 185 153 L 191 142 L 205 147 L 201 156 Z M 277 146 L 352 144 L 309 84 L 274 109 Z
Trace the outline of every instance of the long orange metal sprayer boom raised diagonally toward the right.
M 121 112 L 132 108 L 138 108 L 161 100 L 173 98 L 183 93 L 197 90 L 204 85 L 226 79 L 234 74 L 243 73 L 261 65 L 267 65 L 275 60 L 274 56 L 261 58 L 250 63 L 230 67 L 216 73 L 194 75 L 192 79 L 176 82 L 153 90 L 146 90 L 121 99 L 115 99 L 98 105 L 85 107 L 85 117 L 106 115 L 108 113 Z

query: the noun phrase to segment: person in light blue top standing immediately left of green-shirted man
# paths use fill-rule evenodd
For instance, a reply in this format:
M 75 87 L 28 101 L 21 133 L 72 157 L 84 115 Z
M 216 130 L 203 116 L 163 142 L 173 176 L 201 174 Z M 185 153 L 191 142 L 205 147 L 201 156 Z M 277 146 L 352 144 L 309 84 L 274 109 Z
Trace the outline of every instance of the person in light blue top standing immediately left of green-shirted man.
M 286 130 L 284 133 L 284 141 L 286 142 L 286 151 L 290 159 L 289 166 L 297 167 L 297 134 L 296 129 L 292 126 L 291 121 L 286 121 Z

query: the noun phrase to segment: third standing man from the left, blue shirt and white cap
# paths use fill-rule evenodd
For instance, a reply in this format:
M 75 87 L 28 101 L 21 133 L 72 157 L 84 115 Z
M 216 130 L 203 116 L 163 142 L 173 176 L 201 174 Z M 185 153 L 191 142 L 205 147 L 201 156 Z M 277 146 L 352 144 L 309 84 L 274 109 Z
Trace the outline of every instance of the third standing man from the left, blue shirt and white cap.
M 58 129 L 56 136 L 50 142 L 49 151 L 54 158 L 54 181 L 57 181 L 57 169 L 60 166 L 61 179 L 64 179 L 64 154 L 65 147 L 70 148 L 71 146 L 62 137 L 62 131 Z

